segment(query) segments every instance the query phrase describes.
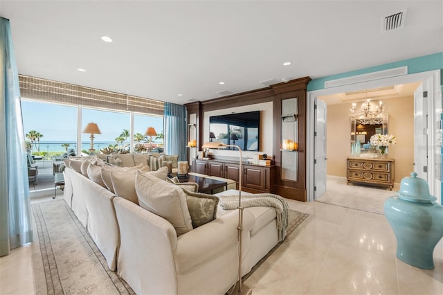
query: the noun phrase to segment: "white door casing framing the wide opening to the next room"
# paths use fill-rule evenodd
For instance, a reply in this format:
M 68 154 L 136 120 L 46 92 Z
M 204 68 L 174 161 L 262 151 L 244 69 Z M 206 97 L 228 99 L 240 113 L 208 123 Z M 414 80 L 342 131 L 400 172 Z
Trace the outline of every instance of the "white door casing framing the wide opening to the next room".
M 408 84 L 413 82 L 421 82 L 428 89 L 426 93 L 428 96 L 428 104 L 426 105 L 428 111 L 428 141 L 430 142 L 428 149 L 424 152 L 426 153 L 426 157 L 428 157 L 428 184 L 430 186 L 431 195 L 435 195 L 438 199 L 441 200 L 441 181 L 437 179 L 437 175 L 434 170 L 437 169 L 438 159 L 441 157 L 439 154 L 435 154 L 433 149 L 433 143 L 435 143 L 435 124 L 431 124 L 435 122 L 435 109 L 441 109 L 441 91 L 440 91 L 440 70 L 437 71 L 429 71 L 424 73 L 416 73 L 412 75 L 401 75 L 393 78 L 385 78 L 374 81 L 365 81 L 359 82 L 355 84 L 343 85 L 339 87 L 329 88 L 329 89 L 321 89 L 318 91 L 310 91 L 308 93 L 308 102 L 307 102 L 307 112 L 308 112 L 308 122 L 307 122 L 307 196 L 308 201 L 314 201 L 316 197 L 316 188 L 317 179 L 326 179 L 326 177 L 316 177 L 315 175 L 315 165 L 314 163 L 318 163 L 321 159 L 314 159 L 315 150 L 318 149 L 316 147 L 316 138 L 314 136 L 316 122 L 316 109 L 315 104 L 316 101 L 319 100 L 322 96 L 329 96 L 334 93 L 345 93 L 351 91 L 359 91 L 361 89 L 374 89 L 379 87 L 388 87 L 394 84 Z M 431 122 L 431 123 L 429 123 Z M 328 127 L 329 128 L 329 127 Z M 349 152 L 348 152 L 349 154 Z M 326 157 L 325 157 L 326 158 Z M 326 161 L 326 160 L 324 160 Z M 435 169 L 434 169 L 435 168 Z M 397 179 L 396 182 L 399 183 L 401 179 Z M 321 187 L 321 184 L 320 184 Z M 327 189 L 327 188 L 326 188 Z M 438 201 L 441 202 L 441 201 Z

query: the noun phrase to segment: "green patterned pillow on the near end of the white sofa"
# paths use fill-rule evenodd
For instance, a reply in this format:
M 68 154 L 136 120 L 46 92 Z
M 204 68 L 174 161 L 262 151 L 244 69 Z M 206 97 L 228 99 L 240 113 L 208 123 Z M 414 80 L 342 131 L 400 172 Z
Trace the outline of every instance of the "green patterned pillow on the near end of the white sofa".
M 186 189 L 183 192 L 186 194 L 186 203 L 194 229 L 217 218 L 219 198 L 213 195 L 192 193 Z

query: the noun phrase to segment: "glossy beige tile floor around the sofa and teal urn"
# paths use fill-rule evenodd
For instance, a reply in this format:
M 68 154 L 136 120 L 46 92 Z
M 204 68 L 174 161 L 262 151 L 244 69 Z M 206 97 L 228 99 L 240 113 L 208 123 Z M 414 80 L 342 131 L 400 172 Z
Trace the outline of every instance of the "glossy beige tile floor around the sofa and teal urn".
M 417 269 L 395 257 L 395 235 L 383 215 L 288 203 L 311 214 L 311 221 L 287 241 L 253 294 L 443 294 L 443 239 L 435 247 L 435 269 Z M 0 294 L 35 294 L 33 246 L 0 258 Z

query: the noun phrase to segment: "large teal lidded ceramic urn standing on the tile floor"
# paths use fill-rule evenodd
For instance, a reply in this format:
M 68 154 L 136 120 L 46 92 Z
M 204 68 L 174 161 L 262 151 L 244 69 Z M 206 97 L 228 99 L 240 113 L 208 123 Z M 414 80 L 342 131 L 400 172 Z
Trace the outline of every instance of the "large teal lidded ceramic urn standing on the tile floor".
M 401 180 L 399 195 L 384 204 L 397 238 L 397 258 L 421 269 L 433 269 L 433 251 L 443 237 L 443 206 L 429 195 L 426 181 L 412 172 Z

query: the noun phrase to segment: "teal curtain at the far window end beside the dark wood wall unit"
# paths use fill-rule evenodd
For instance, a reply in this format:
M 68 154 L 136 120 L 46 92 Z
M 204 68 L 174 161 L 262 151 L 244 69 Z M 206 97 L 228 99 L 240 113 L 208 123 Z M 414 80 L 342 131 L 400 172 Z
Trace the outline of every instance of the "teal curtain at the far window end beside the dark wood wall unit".
M 187 112 L 184 105 L 165 102 L 165 154 L 178 154 L 179 161 L 187 160 Z

